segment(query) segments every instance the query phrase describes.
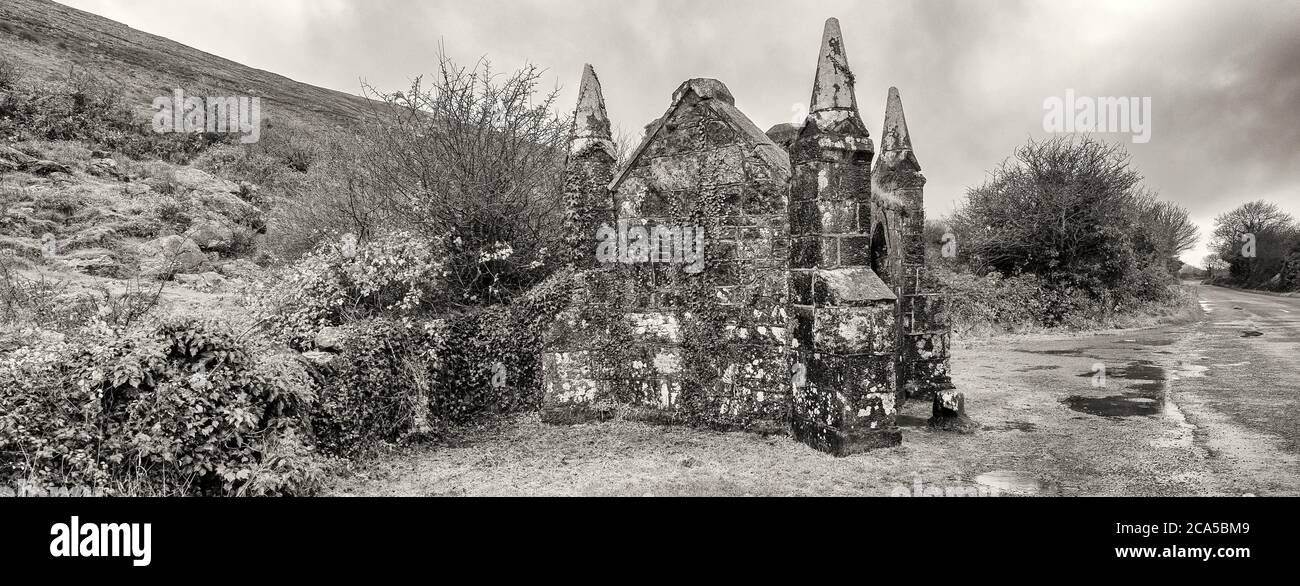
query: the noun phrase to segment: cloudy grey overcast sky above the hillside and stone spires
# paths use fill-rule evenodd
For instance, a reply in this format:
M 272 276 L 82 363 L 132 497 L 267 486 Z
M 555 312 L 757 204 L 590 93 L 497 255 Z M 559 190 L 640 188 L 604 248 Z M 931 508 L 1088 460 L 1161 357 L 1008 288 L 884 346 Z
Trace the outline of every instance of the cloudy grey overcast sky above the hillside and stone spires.
M 566 109 L 584 62 L 630 134 L 693 77 L 724 82 L 767 129 L 809 100 L 822 25 L 840 18 L 862 116 L 879 143 L 902 94 L 931 217 L 1030 136 L 1044 100 L 1150 97 L 1150 140 L 1123 142 L 1149 187 L 1202 226 L 1269 199 L 1300 216 L 1297 0 L 61 0 L 292 79 L 359 92 L 462 61 L 547 69 Z

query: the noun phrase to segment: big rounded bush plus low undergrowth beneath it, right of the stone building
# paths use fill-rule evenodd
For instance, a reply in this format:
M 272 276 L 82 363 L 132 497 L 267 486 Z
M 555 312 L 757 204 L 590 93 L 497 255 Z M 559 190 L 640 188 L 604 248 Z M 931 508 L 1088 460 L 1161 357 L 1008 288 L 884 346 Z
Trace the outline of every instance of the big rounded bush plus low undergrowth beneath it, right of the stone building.
M 985 313 L 982 322 L 1039 326 L 1167 300 L 1176 256 L 1196 242 L 1186 209 L 1143 188 L 1122 147 L 1091 138 L 1031 140 L 971 188 L 944 227 L 956 234 L 958 257 L 937 264 L 971 273 L 948 279 L 963 296 L 958 305 Z M 980 277 L 989 273 L 1006 278 Z M 989 290 L 1024 305 L 1010 309 L 1006 298 L 983 295 Z

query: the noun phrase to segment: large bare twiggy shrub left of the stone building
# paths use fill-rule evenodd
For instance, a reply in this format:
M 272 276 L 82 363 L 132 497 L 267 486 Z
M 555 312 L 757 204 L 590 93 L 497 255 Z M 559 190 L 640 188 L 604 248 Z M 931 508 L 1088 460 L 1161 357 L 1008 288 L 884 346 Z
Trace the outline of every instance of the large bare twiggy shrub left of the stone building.
M 556 94 L 538 91 L 541 75 L 439 55 L 437 74 L 408 91 L 367 86 L 374 116 L 335 133 L 320 173 L 277 207 L 283 251 L 404 229 L 447 243 L 454 303 L 503 301 L 536 283 L 559 242 L 568 131 L 552 112 Z

